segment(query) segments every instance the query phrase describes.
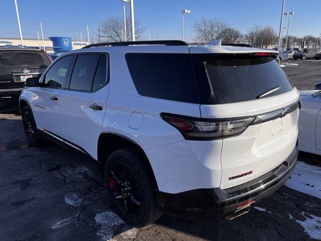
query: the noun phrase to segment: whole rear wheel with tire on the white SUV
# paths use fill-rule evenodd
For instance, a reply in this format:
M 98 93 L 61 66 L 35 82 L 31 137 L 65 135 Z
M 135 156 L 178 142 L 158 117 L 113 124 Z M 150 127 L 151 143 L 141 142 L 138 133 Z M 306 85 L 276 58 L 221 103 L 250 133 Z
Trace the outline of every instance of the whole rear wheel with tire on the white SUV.
M 116 213 L 129 225 L 146 226 L 162 216 L 156 204 L 152 173 L 130 149 L 114 151 L 106 160 L 105 185 Z

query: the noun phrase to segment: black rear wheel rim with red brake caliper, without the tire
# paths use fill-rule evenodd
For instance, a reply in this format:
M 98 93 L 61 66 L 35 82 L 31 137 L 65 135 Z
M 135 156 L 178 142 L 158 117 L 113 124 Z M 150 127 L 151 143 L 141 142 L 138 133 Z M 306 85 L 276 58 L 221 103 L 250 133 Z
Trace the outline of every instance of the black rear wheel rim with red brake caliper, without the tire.
M 121 211 L 127 216 L 135 216 L 141 210 L 141 194 L 137 179 L 122 163 L 110 169 L 109 187 Z

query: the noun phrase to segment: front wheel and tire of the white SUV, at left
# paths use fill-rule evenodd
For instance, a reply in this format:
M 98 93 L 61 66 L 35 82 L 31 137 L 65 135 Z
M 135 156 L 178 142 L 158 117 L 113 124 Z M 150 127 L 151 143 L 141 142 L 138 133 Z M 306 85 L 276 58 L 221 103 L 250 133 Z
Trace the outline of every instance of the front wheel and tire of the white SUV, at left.
M 24 131 L 29 142 L 29 146 L 36 147 L 40 144 L 40 135 L 37 131 L 34 115 L 28 105 L 24 106 L 21 111 Z

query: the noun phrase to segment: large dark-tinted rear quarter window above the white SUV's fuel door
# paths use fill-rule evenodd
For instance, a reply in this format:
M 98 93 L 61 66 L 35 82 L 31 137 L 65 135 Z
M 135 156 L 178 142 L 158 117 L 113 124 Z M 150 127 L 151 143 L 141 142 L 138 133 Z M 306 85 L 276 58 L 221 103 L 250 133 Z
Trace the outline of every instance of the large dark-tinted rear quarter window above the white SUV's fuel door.
M 140 95 L 199 103 L 190 54 L 127 53 L 125 57 Z

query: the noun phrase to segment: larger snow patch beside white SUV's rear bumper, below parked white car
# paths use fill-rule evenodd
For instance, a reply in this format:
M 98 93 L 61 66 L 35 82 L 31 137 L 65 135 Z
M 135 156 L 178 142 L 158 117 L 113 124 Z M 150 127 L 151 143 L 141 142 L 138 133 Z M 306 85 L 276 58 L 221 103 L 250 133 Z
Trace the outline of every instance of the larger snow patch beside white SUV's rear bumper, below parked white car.
M 321 198 L 321 168 L 297 162 L 294 172 L 285 186 Z

